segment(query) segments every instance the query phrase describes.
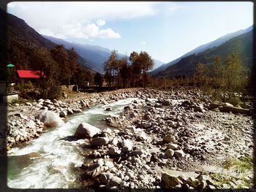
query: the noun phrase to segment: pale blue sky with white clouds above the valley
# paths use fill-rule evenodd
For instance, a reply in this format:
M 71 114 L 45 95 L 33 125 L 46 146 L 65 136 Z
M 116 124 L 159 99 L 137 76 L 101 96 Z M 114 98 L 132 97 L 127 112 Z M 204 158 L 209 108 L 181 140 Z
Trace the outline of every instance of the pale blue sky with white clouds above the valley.
M 39 34 L 165 63 L 253 24 L 251 1 L 12 1 L 7 12 Z

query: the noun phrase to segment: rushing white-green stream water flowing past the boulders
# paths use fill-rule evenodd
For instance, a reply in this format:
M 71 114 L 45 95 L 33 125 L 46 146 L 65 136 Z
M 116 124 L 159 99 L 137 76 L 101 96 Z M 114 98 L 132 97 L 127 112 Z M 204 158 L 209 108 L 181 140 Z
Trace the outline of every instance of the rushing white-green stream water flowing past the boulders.
M 81 154 L 83 140 L 67 141 L 80 123 L 106 128 L 102 118 L 118 116 L 124 106 L 136 98 L 97 105 L 83 114 L 71 115 L 64 126 L 48 128 L 38 139 L 8 151 L 7 185 L 10 188 L 78 188 L 78 168 L 85 157 Z M 111 107 L 112 111 L 105 111 Z

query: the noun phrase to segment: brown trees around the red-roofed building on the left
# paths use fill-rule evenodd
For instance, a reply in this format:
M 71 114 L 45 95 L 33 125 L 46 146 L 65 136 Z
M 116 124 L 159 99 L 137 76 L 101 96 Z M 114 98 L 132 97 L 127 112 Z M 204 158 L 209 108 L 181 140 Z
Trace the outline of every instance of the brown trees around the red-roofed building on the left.
M 35 47 L 27 51 L 12 47 L 10 53 L 12 54 L 10 54 L 8 63 L 15 64 L 16 69 L 40 71 L 40 80 L 32 83 L 32 87 L 39 91 L 37 97 L 57 98 L 60 95 L 60 85 L 82 85 L 85 80 L 94 81 L 94 74 L 78 64 L 78 53 L 73 47 L 65 49 L 64 45 L 56 45 L 50 50 L 46 47 Z M 15 53 L 18 54 L 15 55 Z M 26 62 L 22 65 L 21 61 Z M 15 88 L 21 92 L 21 96 L 26 97 L 28 91 L 26 84 L 31 88 L 31 82 L 18 80 L 13 73 L 10 74 L 8 71 L 7 79 L 17 82 Z

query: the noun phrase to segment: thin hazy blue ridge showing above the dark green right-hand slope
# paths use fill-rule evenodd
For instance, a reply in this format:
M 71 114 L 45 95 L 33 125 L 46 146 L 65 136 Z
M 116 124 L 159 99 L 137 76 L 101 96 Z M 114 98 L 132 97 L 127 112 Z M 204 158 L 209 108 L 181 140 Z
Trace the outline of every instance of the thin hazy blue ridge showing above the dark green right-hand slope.
M 196 47 L 194 50 L 189 51 L 189 53 L 186 53 L 185 55 L 182 55 L 181 57 L 176 58 L 175 60 L 170 61 L 167 64 L 159 66 L 159 68 L 155 69 L 150 74 L 154 75 L 154 74 L 157 74 L 158 72 L 164 71 L 165 69 L 167 69 L 168 66 L 171 66 L 173 64 L 178 63 L 178 61 L 181 61 L 181 58 L 185 58 L 185 57 L 187 57 L 189 55 L 201 53 L 201 52 L 203 52 L 205 50 L 208 50 L 208 49 L 210 49 L 212 47 L 218 47 L 219 45 L 222 45 L 222 43 L 227 42 L 228 40 L 232 39 L 233 37 L 237 37 L 237 36 L 239 36 L 241 34 L 245 34 L 245 33 L 249 32 L 249 31 L 252 31 L 252 28 L 253 28 L 253 26 L 250 26 L 249 28 L 241 29 L 241 30 L 236 31 L 234 33 L 225 34 L 224 36 L 219 37 L 218 39 L 214 40 L 213 42 L 208 42 L 205 45 L 200 45 L 199 47 Z

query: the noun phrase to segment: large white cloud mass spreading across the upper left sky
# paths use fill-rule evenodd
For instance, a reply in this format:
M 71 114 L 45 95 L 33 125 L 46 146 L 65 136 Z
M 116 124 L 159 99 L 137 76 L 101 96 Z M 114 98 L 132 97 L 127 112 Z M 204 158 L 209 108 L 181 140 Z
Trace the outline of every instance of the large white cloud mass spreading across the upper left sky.
M 114 28 L 99 27 L 108 21 L 154 15 L 154 4 L 157 2 L 14 1 L 7 5 L 7 11 L 53 37 L 120 38 Z

